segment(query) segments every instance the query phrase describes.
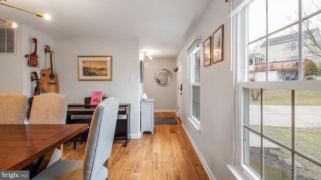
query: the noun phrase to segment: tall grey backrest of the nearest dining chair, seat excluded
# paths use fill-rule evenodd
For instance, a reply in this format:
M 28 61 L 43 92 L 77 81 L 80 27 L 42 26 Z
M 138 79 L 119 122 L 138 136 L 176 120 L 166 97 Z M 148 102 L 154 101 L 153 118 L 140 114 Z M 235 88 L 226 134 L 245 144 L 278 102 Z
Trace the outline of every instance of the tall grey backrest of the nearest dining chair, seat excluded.
M 103 166 L 111 154 L 119 100 L 108 97 L 93 113 L 84 157 L 84 179 L 106 179 L 108 169 Z

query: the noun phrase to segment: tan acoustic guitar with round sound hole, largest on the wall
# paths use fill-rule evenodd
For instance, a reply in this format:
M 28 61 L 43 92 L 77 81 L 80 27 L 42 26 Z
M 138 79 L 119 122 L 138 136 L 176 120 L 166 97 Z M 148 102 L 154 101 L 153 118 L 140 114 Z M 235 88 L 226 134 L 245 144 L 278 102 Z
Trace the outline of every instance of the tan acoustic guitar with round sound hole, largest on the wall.
M 41 73 L 40 91 L 41 92 L 58 92 L 59 83 L 57 80 L 57 74 L 54 73 L 53 67 L 52 67 L 52 52 L 53 51 L 51 51 L 50 45 L 47 45 L 47 48 L 45 48 L 45 52 L 50 53 L 50 68 L 42 69 L 40 71 L 40 73 Z

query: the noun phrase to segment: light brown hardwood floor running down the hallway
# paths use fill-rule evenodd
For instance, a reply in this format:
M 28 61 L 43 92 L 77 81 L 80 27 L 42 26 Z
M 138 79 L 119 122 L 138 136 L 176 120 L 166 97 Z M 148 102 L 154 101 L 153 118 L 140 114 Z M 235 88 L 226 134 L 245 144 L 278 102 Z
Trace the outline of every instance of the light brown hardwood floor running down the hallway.
M 114 142 L 108 160 L 108 180 L 209 179 L 175 112 L 155 112 L 155 117 L 176 118 L 178 124 L 154 125 L 154 134 L 143 133 L 127 147 Z M 64 159 L 83 160 L 86 143 L 64 145 Z

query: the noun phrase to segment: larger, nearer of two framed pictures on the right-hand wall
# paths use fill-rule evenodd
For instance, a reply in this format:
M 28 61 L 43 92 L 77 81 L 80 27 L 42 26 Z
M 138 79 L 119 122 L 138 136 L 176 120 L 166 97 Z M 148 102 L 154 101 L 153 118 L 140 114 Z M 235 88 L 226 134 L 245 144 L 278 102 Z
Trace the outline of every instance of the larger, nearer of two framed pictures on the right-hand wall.
M 223 60 L 224 24 L 213 32 L 212 38 L 212 63 L 216 63 Z

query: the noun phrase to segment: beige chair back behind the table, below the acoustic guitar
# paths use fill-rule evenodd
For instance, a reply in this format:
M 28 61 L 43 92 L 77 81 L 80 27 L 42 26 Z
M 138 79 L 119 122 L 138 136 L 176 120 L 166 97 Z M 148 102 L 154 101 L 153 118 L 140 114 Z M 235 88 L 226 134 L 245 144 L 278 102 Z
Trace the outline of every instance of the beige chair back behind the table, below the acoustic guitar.
M 66 123 L 68 96 L 49 92 L 35 95 L 30 110 L 30 124 Z

